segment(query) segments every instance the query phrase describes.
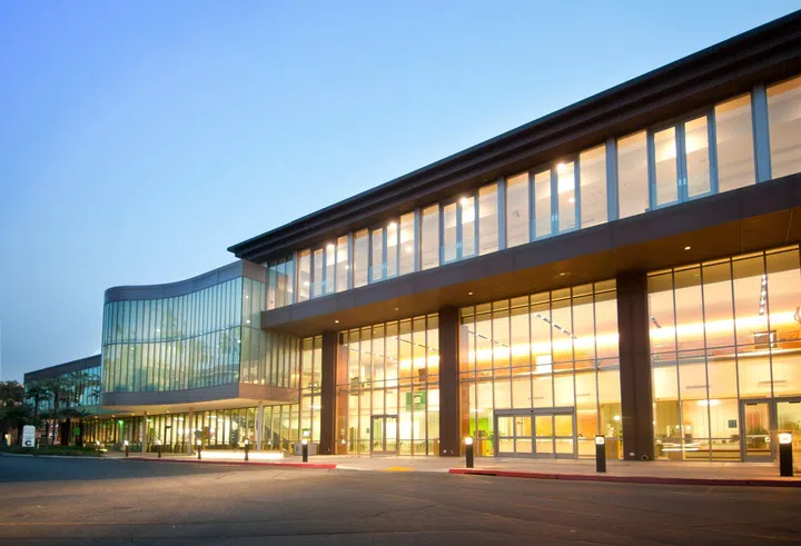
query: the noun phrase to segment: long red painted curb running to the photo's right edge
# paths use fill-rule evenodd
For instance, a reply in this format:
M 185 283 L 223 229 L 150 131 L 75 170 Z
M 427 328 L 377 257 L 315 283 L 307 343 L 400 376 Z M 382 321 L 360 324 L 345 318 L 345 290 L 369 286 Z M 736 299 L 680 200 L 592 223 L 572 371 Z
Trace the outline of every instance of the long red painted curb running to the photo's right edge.
M 801 487 L 801 479 L 660 478 L 655 476 L 604 476 L 592 474 L 546 474 L 514 470 L 482 470 L 478 468 L 451 468 L 448 474 L 471 474 L 476 476 L 498 476 L 504 478 L 562 479 L 565 482 L 613 482 L 619 484 Z

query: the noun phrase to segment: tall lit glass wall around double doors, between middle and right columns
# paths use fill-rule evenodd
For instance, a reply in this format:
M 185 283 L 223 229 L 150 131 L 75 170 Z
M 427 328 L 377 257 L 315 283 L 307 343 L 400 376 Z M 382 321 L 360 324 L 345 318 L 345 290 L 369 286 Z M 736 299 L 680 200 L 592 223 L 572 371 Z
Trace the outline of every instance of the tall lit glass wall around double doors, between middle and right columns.
M 594 456 L 595 435 L 603 434 L 607 456 L 620 457 L 614 280 L 462 308 L 459 387 L 462 434 L 475 438 L 478 455 L 497 455 L 504 430 L 494 429 L 496 411 L 566 408 L 575 416 L 565 443 L 571 453 Z M 513 453 L 533 455 L 527 435 Z

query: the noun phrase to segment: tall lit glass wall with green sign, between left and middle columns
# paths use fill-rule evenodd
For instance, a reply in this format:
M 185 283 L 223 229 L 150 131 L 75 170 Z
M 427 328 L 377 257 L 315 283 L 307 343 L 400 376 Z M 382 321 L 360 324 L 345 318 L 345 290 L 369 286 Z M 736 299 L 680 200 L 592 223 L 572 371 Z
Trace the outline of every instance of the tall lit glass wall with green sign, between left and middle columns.
M 437 455 L 437 315 L 339 334 L 337 453 Z

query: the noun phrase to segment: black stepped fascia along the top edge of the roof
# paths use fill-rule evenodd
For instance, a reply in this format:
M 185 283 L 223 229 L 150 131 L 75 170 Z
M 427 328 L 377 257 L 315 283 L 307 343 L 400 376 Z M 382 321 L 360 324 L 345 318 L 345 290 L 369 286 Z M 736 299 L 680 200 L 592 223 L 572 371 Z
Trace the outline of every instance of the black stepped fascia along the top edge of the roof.
M 597 123 L 600 120 L 612 119 L 634 105 L 647 103 L 655 98 L 689 88 L 691 85 L 694 86 L 698 93 L 703 92 L 701 82 L 704 80 L 709 81 L 710 88 L 730 85 L 731 79 L 743 78 L 749 73 L 749 64 L 753 64 L 754 70 L 764 69 L 764 66 L 756 67 L 758 61 L 769 57 L 772 52 L 790 50 L 790 57 L 801 57 L 800 23 L 801 10 L 620 83 L 263 235 L 236 244 L 228 250 L 238 258 L 256 262 L 280 257 L 291 251 L 294 248 L 290 247 L 295 245 L 304 246 L 306 240 L 322 240 L 322 238 L 344 235 L 338 230 L 348 224 L 353 226 L 355 216 L 364 218 L 362 227 L 369 226 L 372 220 L 368 218 L 379 218 L 388 207 L 396 207 L 399 201 L 409 201 L 409 196 L 417 197 L 414 193 L 419 192 L 422 186 L 433 187 L 443 178 L 447 178 L 445 185 L 455 187 L 461 181 L 457 177 L 464 177 L 468 167 L 475 168 L 478 163 L 496 160 L 501 156 L 510 156 L 513 151 L 511 148 L 518 150 L 521 147 L 531 146 L 532 141 L 542 138 L 541 133 L 547 132 L 544 136 L 550 137 L 556 132 L 574 131 L 575 137 L 578 137 L 591 121 Z M 777 63 L 782 61 L 783 59 L 777 58 Z M 730 81 L 713 78 L 721 75 L 730 75 Z M 619 117 L 617 121 L 620 122 Z M 486 181 L 491 181 L 491 179 Z M 431 193 L 434 193 L 434 189 Z M 325 235 L 323 235 L 324 232 Z

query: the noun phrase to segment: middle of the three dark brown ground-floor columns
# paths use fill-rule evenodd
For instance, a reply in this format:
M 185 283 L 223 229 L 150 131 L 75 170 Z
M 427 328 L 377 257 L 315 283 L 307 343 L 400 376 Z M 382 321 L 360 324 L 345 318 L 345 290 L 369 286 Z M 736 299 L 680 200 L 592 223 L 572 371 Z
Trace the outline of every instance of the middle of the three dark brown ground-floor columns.
M 458 457 L 458 308 L 439 309 L 439 455 Z

